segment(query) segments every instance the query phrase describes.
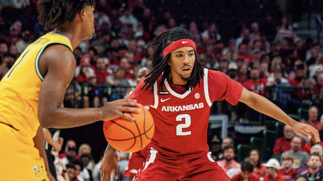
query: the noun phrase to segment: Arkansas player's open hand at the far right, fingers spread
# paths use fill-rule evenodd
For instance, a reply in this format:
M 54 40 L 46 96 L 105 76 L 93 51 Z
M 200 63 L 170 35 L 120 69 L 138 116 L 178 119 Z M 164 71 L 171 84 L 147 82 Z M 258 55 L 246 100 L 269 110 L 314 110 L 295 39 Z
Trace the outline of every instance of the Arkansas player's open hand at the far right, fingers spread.
M 301 123 L 301 122 L 296 122 L 292 126 L 292 128 L 293 128 L 295 133 L 307 137 L 308 140 L 310 140 L 312 138 L 312 135 L 313 135 L 314 138 L 315 138 L 315 141 L 320 142 L 320 137 L 318 135 L 318 130 L 315 129 L 313 126 L 311 126 L 309 124 L 304 124 L 304 123 Z

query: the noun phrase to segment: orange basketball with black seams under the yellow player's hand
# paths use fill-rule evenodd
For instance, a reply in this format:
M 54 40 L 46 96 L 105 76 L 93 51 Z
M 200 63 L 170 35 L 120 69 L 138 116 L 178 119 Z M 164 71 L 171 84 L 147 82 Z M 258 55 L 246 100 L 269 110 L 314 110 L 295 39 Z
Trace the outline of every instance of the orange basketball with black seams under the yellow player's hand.
M 135 118 L 129 121 L 117 118 L 103 123 L 103 133 L 108 143 L 122 152 L 137 152 L 147 146 L 154 134 L 155 125 L 150 112 L 141 106 L 139 113 L 125 112 Z

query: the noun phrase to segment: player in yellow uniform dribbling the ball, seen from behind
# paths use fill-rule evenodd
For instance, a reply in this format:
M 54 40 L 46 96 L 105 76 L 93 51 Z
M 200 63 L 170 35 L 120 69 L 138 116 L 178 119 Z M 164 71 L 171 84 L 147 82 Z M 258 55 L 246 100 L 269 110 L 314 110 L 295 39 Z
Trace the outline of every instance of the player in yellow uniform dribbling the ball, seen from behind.
M 62 108 L 76 61 L 73 49 L 92 38 L 94 0 L 39 0 L 38 20 L 54 31 L 29 45 L 0 82 L 0 180 L 55 180 L 49 173 L 44 128 L 70 128 L 117 117 L 133 118 L 134 100 L 102 108 Z

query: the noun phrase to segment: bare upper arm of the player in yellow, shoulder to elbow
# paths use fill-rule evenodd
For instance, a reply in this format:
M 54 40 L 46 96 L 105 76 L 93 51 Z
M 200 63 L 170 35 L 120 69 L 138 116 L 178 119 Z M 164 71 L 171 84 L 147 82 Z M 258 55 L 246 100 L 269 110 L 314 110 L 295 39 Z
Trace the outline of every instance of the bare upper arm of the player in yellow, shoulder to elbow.
M 72 80 L 75 71 L 75 59 L 71 51 L 61 51 L 51 48 L 44 51 L 40 61 L 47 66 L 47 73 L 44 77 L 39 92 L 38 118 L 43 120 L 46 112 L 53 111 L 60 107 L 69 82 Z M 44 118 L 46 120 L 46 118 Z

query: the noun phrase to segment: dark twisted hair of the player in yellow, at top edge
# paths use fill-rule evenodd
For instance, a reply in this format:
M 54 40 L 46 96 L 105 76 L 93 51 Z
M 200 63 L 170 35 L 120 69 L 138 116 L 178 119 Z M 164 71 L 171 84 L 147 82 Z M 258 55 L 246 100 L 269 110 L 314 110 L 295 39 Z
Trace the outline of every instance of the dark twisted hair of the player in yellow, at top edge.
M 39 0 L 38 21 L 45 26 L 45 30 L 56 28 L 67 21 L 72 22 L 85 6 L 94 7 L 95 0 Z

